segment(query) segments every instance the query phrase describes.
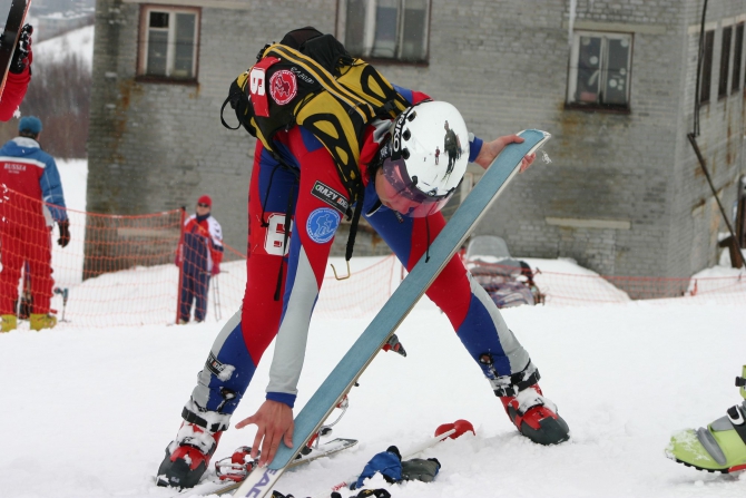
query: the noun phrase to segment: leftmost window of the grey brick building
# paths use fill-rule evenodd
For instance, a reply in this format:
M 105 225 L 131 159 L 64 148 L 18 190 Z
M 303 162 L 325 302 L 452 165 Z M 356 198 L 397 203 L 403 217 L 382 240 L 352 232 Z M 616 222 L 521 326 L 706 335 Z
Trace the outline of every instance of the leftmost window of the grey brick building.
M 199 10 L 143 7 L 138 74 L 156 79 L 197 79 Z

